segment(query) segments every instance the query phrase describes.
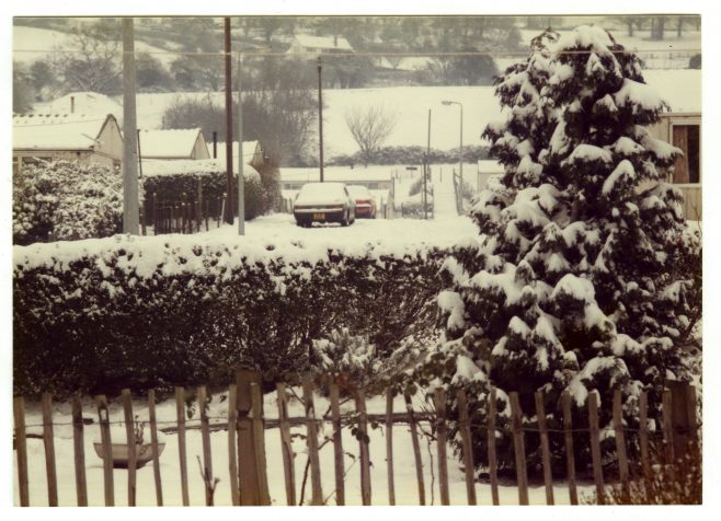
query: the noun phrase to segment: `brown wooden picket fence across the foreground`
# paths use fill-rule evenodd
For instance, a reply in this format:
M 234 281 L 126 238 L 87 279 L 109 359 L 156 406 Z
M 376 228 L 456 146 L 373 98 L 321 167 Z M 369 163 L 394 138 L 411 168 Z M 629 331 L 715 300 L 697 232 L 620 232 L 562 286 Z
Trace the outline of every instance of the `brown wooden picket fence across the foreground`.
M 319 459 L 319 424 L 330 421 L 332 425 L 332 443 L 334 452 L 334 475 L 335 475 L 335 502 L 345 505 L 345 471 L 344 471 L 344 448 L 341 437 L 341 430 L 344 426 L 351 424 L 357 429 L 359 440 L 359 465 L 360 465 L 360 490 L 362 502 L 364 506 L 371 505 L 371 483 L 370 483 L 370 459 L 368 443 L 368 425 L 369 421 L 385 422 L 386 439 L 386 463 L 388 473 L 388 500 L 389 505 L 396 505 L 396 481 L 393 472 L 393 425 L 398 422 L 408 424 L 413 455 L 415 462 L 415 474 L 417 482 L 417 500 L 419 505 L 426 505 L 423 464 L 421 459 L 421 444 L 419 430 L 421 422 L 427 421 L 432 425 L 437 447 L 437 476 L 438 488 L 440 491 L 440 503 L 449 505 L 449 482 L 447 467 L 447 416 L 446 416 L 446 395 L 443 389 L 435 391 L 433 402 L 434 413 L 416 412 L 413 409 L 411 396 L 404 396 L 405 412 L 396 413 L 393 410 L 393 392 L 386 392 L 386 414 L 369 415 L 366 412 L 366 397 L 363 390 L 354 392 L 355 414 L 351 416 L 341 415 L 340 389 L 336 384 L 330 384 L 330 417 L 319 417 L 316 413 L 313 403 L 313 379 L 311 375 L 302 378 L 302 402 L 305 414 L 302 417 L 288 416 L 288 393 L 285 383 L 276 384 L 278 419 L 266 419 L 263 412 L 262 377 L 259 372 L 250 370 L 238 370 L 236 373 L 234 384 L 228 389 L 228 416 L 224 425 L 210 425 L 207 410 L 204 406 L 199 407 L 201 418 L 199 428 L 202 431 L 203 444 L 203 463 L 202 474 L 205 483 L 206 505 L 214 505 L 214 482 L 213 456 L 210 451 L 210 431 L 227 430 L 228 432 L 228 454 L 229 454 L 229 475 L 231 488 L 231 501 L 233 506 L 267 506 L 271 505 L 268 493 L 268 476 L 265 455 L 265 437 L 264 429 L 277 427 L 281 432 L 283 450 L 284 482 L 286 491 L 286 503 L 289 506 L 299 503 L 324 505 L 323 490 L 321 487 L 321 465 Z M 205 404 L 208 396 L 207 389 L 201 386 L 197 389 L 198 404 Z M 465 479 L 467 489 L 468 505 L 477 505 L 477 490 L 474 478 L 474 464 L 471 447 L 471 424 L 469 421 L 468 398 L 464 390 L 458 391 L 458 431 L 462 444 L 465 468 Z M 187 479 L 187 450 L 186 450 L 186 393 L 183 387 L 175 389 L 176 403 L 176 424 L 171 429 L 178 435 L 179 455 L 180 455 L 180 482 L 182 488 L 183 506 L 190 505 L 188 479 Z M 549 429 L 546 425 L 546 414 L 543 410 L 543 395 L 539 391 L 536 393 L 536 416 L 538 418 L 538 428 L 529 429 L 524 427 L 522 421 L 522 409 L 518 401 L 518 394 L 508 393 L 511 403 L 511 419 L 513 437 L 513 447 L 515 454 L 516 484 L 518 489 L 518 502 L 528 505 L 528 476 L 526 467 L 525 452 L 525 432 L 537 430 L 540 436 L 540 448 L 542 453 L 542 474 L 546 493 L 546 502 L 553 505 L 556 502 L 553 491 L 553 476 L 551 473 L 551 452 L 549 448 Z M 104 481 L 104 501 L 105 506 L 114 506 L 114 473 L 111 458 L 111 427 L 108 419 L 108 402 L 105 396 L 95 396 L 98 418 L 101 431 L 103 447 L 103 481 Z M 135 431 L 136 419 L 133 414 L 133 402 L 129 390 L 122 392 L 123 415 L 126 441 L 128 444 L 128 472 L 127 472 L 127 498 L 128 505 L 136 505 L 136 454 L 135 454 Z M 577 479 L 575 471 L 574 456 L 574 437 L 573 432 L 583 430 L 590 435 L 591 453 L 593 460 L 593 481 L 595 484 L 596 499 L 598 503 L 604 503 L 607 495 L 608 476 L 604 474 L 602 462 L 600 433 L 602 429 L 598 424 L 598 402 L 597 394 L 590 393 L 587 397 L 588 428 L 580 429 L 572 425 L 571 420 L 571 396 L 568 392 L 562 395 L 562 431 L 553 432 L 563 435 L 564 450 L 566 460 L 566 473 L 564 484 L 568 487 L 569 501 L 571 505 L 579 503 Z M 640 428 L 634 431 L 640 442 L 640 462 L 630 462 L 627 454 L 626 435 L 628 429 L 625 428 L 621 415 L 621 393 L 616 391 L 613 401 L 613 430 L 616 440 L 616 453 L 618 458 L 618 476 L 614 476 L 615 484 L 619 484 L 622 490 L 630 491 L 631 473 L 629 467 L 631 463 L 642 468 L 644 473 L 650 472 L 650 432 L 648 430 L 648 395 L 642 393 L 639 402 L 639 420 Z M 28 466 L 27 466 L 27 447 L 26 447 L 26 425 L 25 407 L 23 397 L 15 397 L 13 404 L 14 413 L 14 447 L 16 451 L 16 468 L 20 493 L 20 505 L 30 506 L 28 494 Z M 663 393 L 663 448 L 667 461 L 676 461 L 688 449 L 689 443 L 695 442 L 698 437 L 698 425 L 696 417 L 696 394 L 693 386 L 687 384 L 673 385 Z M 148 392 L 149 407 L 149 428 L 153 454 L 158 453 L 158 421 L 156 418 L 156 392 Z M 73 448 L 75 448 L 75 474 L 77 505 L 79 507 L 88 506 L 88 489 L 85 483 L 85 455 L 84 447 L 84 426 L 82 418 L 81 400 L 76 395 L 71 400 L 72 427 L 73 427 Z M 488 461 L 489 461 L 489 479 L 491 486 L 491 496 L 493 505 L 500 503 L 499 497 L 499 476 L 497 455 L 496 455 L 496 390 L 491 389 L 488 401 L 488 425 L 483 426 L 485 436 L 488 436 Z M 53 431 L 53 398 L 49 393 L 42 396 L 42 417 L 43 417 L 43 442 L 46 462 L 47 476 L 47 497 L 49 506 L 58 506 L 58 485 L 56 476 L 56 458 L 54 447 Z M 224 418 L 225 420 L 226 418 Z M 310 500 L 299 500 L 297 497 L 298 486 L 296 482 L 296 470 L 294 462 L 294 451 L 291 444 L 290 427 L 305 425 L 307 436 L 308 462 L 310 468 Z M 153 481 L 156 486 L 157 505 L 163 505 L 162 477 L 158 459 L 152 462 Z M 328 470 L 322 470 L 328 472 Z M 275 477 L 275 476 L 272 476 Z M 557 478 L 559 476 L 556 476 Z M 558 482 L 557 482 L 558 485 Z M 302 490 L 305 494 L 305 489 Z M 330 496 L 329 496 L 330 497 Z M 457 502 L 457 501 L 456 501 Z

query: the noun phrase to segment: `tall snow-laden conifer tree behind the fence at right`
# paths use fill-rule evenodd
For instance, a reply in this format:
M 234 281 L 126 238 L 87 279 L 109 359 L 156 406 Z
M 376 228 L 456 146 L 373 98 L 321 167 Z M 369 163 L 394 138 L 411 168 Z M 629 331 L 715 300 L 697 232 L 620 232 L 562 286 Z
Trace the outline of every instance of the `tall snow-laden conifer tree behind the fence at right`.
M 606 424 L 620 389 L 633 425 L 641 390 L 656 405 L 665 380 L 688 378 L 682 266 L 698 244 L 665 182 L 680 151 L 646 129 L 668 107 L 638 57 L 596 26 L 543 33 L 496 95 L 507 119 L 484 137 L 505 175 L 472 209 L 480 236 L 446 263 L 446 341 L 419 374 L 469 389 L 480 421 L 490 385 L 502 398 L 517 391 L 527 421 L 542 390 L 551 426 L 564 390 L 581 422 L 598 391 Z M 482 463 L 484 437 L 474 438 Z M 538 440 L 529 442 L 533 464 Z

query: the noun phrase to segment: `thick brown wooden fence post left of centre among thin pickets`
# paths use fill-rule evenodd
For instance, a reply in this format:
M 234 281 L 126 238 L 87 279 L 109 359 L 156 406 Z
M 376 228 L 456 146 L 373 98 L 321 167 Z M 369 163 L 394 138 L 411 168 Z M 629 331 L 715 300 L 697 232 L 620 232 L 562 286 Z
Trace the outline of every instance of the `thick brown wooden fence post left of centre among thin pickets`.
M 253 444 L 253 420 L 251 409 L 251 382 L 253 371 L 239 369 L 236 371 L 236 386 L 238 387 L 238 472 L 240 479 L 240 505 L 261 505 L 261 491 L 255 468 L 255 445 Z

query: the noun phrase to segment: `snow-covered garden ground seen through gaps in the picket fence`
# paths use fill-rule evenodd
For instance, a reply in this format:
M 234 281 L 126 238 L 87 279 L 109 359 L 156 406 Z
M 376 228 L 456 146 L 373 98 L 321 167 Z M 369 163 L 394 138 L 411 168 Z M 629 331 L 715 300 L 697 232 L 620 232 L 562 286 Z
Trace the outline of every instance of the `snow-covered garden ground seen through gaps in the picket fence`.
M 299 394 L 300 390 L 296 390 Z M 316 395 L 316 409 L 321 413 L 329 407 L 327 398 Z M 208 416 L 213 424 L 227 422 L 228 402 L 221 402 L 220 395 L 214 395 L 209 405 Z M 414 409 L 422 410 L 422 403 L 415 401 Z M 290 417 L 304 416 L 301 404 L 291 400 L 288 404 Z M 401 396 L 397 396 L 393 402 L 394 412 L 404 412 L 405 405 Z M 134 414 L 139 420 L 147 420 L 148 407 L 146 402 L 136 401 L 134 404 Z M 346 404 L 342 406 L 342 412 L 352 412 L 353 406 Z M 368 414 L 385 414 L 386 403 L 381 397 L 374 397 L 367 401 Z M 175 402 L 169 400 L 162 402 L 156 407 L 159 428 L 175 425 Z M 275 393 L 265 395 L 264 412 L 266 418 L 277 418 L 277 402 Z M 83 416 L 96 420 L 98 413 L 90 400 L 83 403 Z M 197 413 L 194 415 L 197 417 Z M 213 419 L 216 418 L 216 419 Z M 123 408 L 118 402 L 111 404 L 111 422 L 123 421 Z M 75 467 L 73 467 L 73 441 L 72 427 L 70 425 L 69 404 L 57 404 L 55 406 L 54 421 L 56 424 L 66 424 L 55 427 L 55 452 L 57 459 L 57 477 L 58 477 L 58 501 L 60 506 L 76 505 L 75 489 Z M 27 404 L 26 424 L 28 426 L 42 425 L 42 415 L 37 404 Z M 198 426 L 197 419 L 191 419 L 186 424 L 188 427 Z M 112 438 L 124 439 L 124 426 L 114 426 Z M 427 426 L 424 427 L 427 429 Z M 386 440 L 382 428 L 371 429 L 368 427 L 370 438 L 370 478 L 373 505 L 388 505 L 388 474 L 386 466 Z M 41 427 L 27 429 L 28 433 L 42 433 Z M 104 505 L 103 496 L 103 465 L 102 460 L 95 454 L 93 441 L 100 440 L 100 429 L 96 424 L 85 426 L 84 450 L 85 450 L 85 473 L 88 481 L 88 497 L 90 506 Z M 119 435 L 119 433 L 123 435 Z M 113 437 L 118 433 L 119 436 Z M 305 435 L 305 427 L 294 427 L 291 435 Z M 323 424 L 320 432 L 320 441 L 325 436 L 332 436 L 330 424 Z M 216 505 L 231 505 L 229 487 L 229 464 L 228 464 L 228 433 L 227 431 L 213 432 L 210 435 L 210 444 L 213 453 L 213 471 L 216 477 L 220 478 L 215 495 Z M 201 431 L 197 429 L 187 430 L 187 474 L 190 485 L 191 505 L 205 505 L 205 491 L 203 479 L 201 477 L 197 458 L 203 458 Z M 300 486 L 302 483 L 302 473 L 307 463 L 307 447 L 302 438 L 294 437 L 293 449 L 295 452 L 296 467 L 296 497 L 300 498 Z M 343 449 L 346 452 L 344 465 L 346 470 L 345 497 L 347 505 L 360 505 L 360 466 L 356 461 L 359 454 L 358 441 L 351 435 L 348 428 L 343 429 Z M 31 506 L 47 505 L 47 487 L 45 477 L 45 455 L 43 440 L 31 438 L 27 440 L 28 467 L 30 467 L 30 503 Z M 285 506 L 285 481 L 283 472 L 283 458 L 281 452 L 281 433 L 277 428 L 265 430 L 265 452 L 267 461 L 268 486 L 273 505 Z M 347 455 L 353 454 L 354 458 Z M 438 488 L 438 467 L 437 467 L 437 448 L 434 442 L 428 442 L 426 438 L 421 439 L 421 456 L 423 460 L 423 473 L 425 479 L 426 503 L 431 503 L 433 498 L 434 505 L 439 505 Z M 14 459 L 13 459 L 14 460 Z M 415 463 L 410 438 L 410 430 L 404 424 L 397 424 L 393 428 L 393 460 L 394 460 L 394 483 L 396 498 L 398 505 L 419 505 L 417 484 L 415 477 Z M 16 462 L 16 460 L 14 460 Z M 335 505 L 334 491 L 334 459 L 332 443 L 325 444 L 320 451 L 321 479 L 323 496 L 328 505 Z M 16 463 L 15 463 L 16 465 Z M 163 500 L 167 506 L 182 505 L 181 483 L 180 483 L 180 458 L 178 449 L 178 436 L 165 435 L 165 450 L 160 456 L 160 472 L 162 478 Z M 115 505 L 127 505 L 127 471 L 116 468 L 113 474 L 115 489 Z M 465 474 L 460 468 L 459 462 L 454 459 L 451 450 L 448 450 L 448 478 L 450 488 L 451 505 L 467 505 Z M 15 484 L 14 502 L 19 505 L 20 499 L 16 490 L 16 467 L 13 479 Z M 580 495 L 590 494 L 593 489 L 592 484 L 584 483 L 579 487 Z M 485 483 L 476 484 L 476 493 L 479 505 L 491 505 L 491 487 Z M 310 478 L 306 485 L 306 499 L 310 496 Z M 554 486 L 556 502 L 558 505 L 568 505 L 569 493 L 565 484 L 558 482 Z M 529 498 L 531 505 L 545 505 L 545 488 L 540 483 L 531 483 L 529 488 Z M 501 505 L 518 505 L 518 491 L 514 482 L 502 482 L 500 486 Z M 154 506 L 156 491 L 153 482 L 152 465 L 148 464 L 137 472 L 137 503 L 138 506 Z

